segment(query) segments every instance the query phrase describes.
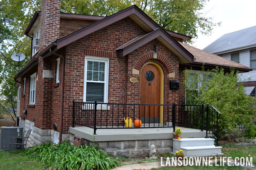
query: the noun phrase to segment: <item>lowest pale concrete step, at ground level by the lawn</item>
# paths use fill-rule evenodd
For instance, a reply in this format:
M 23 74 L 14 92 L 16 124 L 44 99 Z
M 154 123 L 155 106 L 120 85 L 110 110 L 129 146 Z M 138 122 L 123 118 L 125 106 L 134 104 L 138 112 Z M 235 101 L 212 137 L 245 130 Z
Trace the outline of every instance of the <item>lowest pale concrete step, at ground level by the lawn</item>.
M 183 150 L 185 156 L 211 156 L 221 155 L 221 146 L 189 146 L 180 147 Z M 174 153 L 176 150 L 174 150 Z

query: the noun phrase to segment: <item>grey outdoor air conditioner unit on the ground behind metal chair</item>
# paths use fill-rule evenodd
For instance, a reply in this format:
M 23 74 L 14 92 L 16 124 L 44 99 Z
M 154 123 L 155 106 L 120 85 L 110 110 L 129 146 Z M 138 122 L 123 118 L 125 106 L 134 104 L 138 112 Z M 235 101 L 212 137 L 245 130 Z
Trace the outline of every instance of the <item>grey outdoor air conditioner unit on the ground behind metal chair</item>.
M 1 127 L 0 143 L 1 150 L 10 150 L 10 141 L 12 137 L 23 137 L 23 127 L 20 126 L 4 126 Z M 13 143 L 23 143 L 22 139 L 13 139 Z M 23 149 L 23 145 L 12 145 L 12 150 Z

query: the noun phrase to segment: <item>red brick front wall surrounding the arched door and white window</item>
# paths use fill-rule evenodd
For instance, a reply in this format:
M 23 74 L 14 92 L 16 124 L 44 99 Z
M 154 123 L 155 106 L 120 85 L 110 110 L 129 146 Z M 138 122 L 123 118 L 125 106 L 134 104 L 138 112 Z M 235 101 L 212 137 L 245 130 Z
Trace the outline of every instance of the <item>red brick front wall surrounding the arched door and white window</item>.
M 117 57 L 116 48 L 144 33 L 145 31 L 134 21 L 125 18 L 67 45 L 64 133 L 67 133 L 68 128 L 72 126 L 72 101 L 83 101 L 84 57 L 86 55 L 110 58 L 108 89 L 108 102 L 110 103 L 139 103 L 140 76 L 132 74 L 132 68 L 140 70 L 149 61 L 157 62 L 163 68 L 164 104 L 182 102 L 179 100 L 180 90 L 169 90 L 169 80 L 181 79 L 179 77 L 178 57 L 161 42 L 153 40 L 125 57 Z M 159 48 L 157 59 L 153 58 L 153 44 L 157 44 Z M 169 78 L 168 74 L 172 72 L 175 73 L 175 77 Z M 131 77 L 136 77 L 138 82 L 134 84 L 129 82 Z M 111 116 L 112 111 L 108 111 L 108 114 Z M 105 116 L 105 112 L 103 116 Z M 120 118 L 117 120 L 115 115 L 115 123 L 117 121 L 122 122 Z M 109 120 L 109 122 L 111 121 Z

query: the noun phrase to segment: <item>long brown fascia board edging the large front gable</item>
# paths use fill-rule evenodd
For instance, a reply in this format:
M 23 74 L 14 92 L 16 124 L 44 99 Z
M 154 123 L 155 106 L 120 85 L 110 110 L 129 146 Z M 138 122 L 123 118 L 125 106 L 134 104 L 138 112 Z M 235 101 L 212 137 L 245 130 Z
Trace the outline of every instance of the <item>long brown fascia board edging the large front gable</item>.
M 148 17 L 143 11 L 141 11 L 140 8 L 138 8 L 137 6 L 130 6 L 109 17 L 105 17 L 102 20 L 96 21 L 95 23 L 92 23 L 84 28 L 74 31 L 71 34 L 61 37 L 60 39 L 56 40 L 56 42 L 58 42 L 57 48 L 64 47 L 65 45 L 70 44 L 71 42 L 74 42 L 88 34 L 91 34 L 94 31 L 97 31 L 101 28 L 111 25 L 112 23 L 122 20 L 123 18 L 128 17 L 131 14 L 137 15 L 137 17 L 143 20 L 150 28 L 152 28 L 152 30 L 159 27 L 157 23 L 155 23 L 150 17 Z

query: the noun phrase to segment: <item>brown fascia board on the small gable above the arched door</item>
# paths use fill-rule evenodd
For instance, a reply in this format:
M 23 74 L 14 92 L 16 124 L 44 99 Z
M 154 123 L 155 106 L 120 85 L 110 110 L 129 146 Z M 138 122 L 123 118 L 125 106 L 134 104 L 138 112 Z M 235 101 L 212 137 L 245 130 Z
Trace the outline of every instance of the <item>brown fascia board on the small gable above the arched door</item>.
M 137 48 L 141 47 L 142 45 L 150 42 L 151 40 L 156 39 L 157 37 L 162 37 L 173 48 L 175 48 L 183 57 L 185 57 L 190 63 L 192 63 L 194 56 L 192 54 L 190 54 L 188 51 L 184 51 L 183 47 L 180 47 L 180 44 L 177 43 L 177 41 L 174 40 L 174 38 L 166 35 L 166 33 L 162 29 L 159 29 L 159 28 L 152 31 L 145 37 L 125 46 L 124 48 L 116 49 L 117 55 L 118 55 L 118 57 L 123 57 L 123 56 L 131 53 L 132 51 L 136 50 Z

